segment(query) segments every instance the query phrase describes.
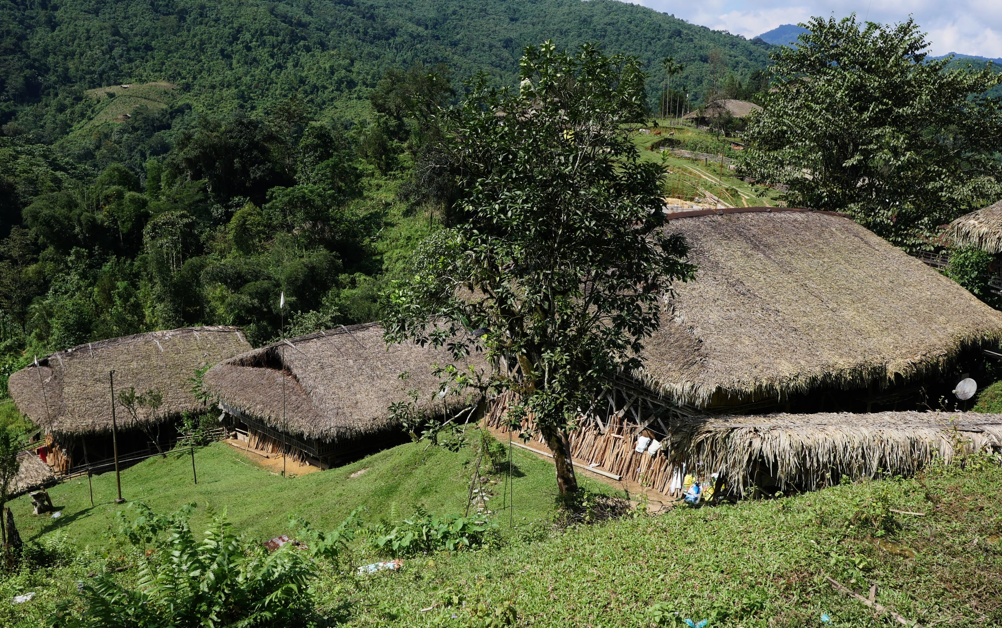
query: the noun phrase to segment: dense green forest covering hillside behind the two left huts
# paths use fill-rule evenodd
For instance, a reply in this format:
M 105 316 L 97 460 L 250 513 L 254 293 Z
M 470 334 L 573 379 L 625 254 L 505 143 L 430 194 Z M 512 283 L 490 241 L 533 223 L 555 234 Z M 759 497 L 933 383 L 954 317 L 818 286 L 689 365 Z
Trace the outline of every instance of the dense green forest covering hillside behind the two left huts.
M 436 224 L 419 103 L 548 38 L 638 55 L 652 106 L 665 56 L 697 102 L 759 91 L 770 49 L 614 0 L 4 0 L 0 397 L 93 340 L 374 320 Z

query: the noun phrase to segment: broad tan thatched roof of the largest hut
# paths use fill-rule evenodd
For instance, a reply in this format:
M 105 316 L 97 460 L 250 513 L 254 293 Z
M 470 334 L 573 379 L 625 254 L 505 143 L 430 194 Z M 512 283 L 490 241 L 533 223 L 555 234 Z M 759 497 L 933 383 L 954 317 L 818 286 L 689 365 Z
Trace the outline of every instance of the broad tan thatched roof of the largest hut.
M 698 269 L 637 375 L 676 403 L 907 382 L 1002 338 L 1002 312 L 837 214 L 703 210 L 667 228 Z

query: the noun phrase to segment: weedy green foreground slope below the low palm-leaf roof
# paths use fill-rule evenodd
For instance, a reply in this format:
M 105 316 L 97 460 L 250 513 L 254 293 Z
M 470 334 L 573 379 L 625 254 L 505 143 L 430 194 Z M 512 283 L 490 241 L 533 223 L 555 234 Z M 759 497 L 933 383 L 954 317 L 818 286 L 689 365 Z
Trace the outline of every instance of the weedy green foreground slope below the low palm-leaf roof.
M 582 527 L 545 542 L 436 557 L 435 565 L 357 579 L 349 589 L 351 624 L 397 617 L 394 625 L 453 625 L 448 618 L 463 611 L 419 609 L 450 588 L 474 597 L 482 577 L 482 596 L 492 604 L 513 600 L 522 625 L 645 626 L 637 614 L 658 602 L 682 618 L 710 618 L 708 628 L 822 626 L 822 613 L 833 618 L 831 626 L 895 625 L 835 592 L 825 580 L 830 575 L 864 594 L 877 584 L 879 603 L 923 626 L 998 626 L 1000 492 L 997 464 L 954 467 L 921 481 L 863 482 Z M 855 513 L 876 511 L 874 503 L 927 516 L 891 513 L 892 530 L 882 539 L 859 518 L 848 527 Z M 713 620 L 714 611 L 729 617 Z

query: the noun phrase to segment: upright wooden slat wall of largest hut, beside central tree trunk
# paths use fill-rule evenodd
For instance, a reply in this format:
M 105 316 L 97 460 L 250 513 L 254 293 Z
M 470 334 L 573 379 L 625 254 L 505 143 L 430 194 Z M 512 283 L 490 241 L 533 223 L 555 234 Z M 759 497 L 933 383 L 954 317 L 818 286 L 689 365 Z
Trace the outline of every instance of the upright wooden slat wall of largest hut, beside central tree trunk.
M 487 425 L 507 432 L 509 426 L 504 415 L 514 399 L 510 392 L 495 399 L 485 416 Z M 578 418 L 580 427 L 570 435 L 571 456 L 589 466 L 596 464 L 599 469 L 622 476 L 624 480 L 677 497 L 680 492 L 671 490 L 671 479 L 680 469 L 668 460 L 666 447 L 653 456 L 636 452 L 640 436 L 667 445 L 666 424 L 659 420 L 664 408 L 619 391 L 611 391 L 602 403 L 590 416 Z M 531 417 L 522 422 L 520 430 L 532 430 Z M 543 443 L 541 436 L 536 441 Z

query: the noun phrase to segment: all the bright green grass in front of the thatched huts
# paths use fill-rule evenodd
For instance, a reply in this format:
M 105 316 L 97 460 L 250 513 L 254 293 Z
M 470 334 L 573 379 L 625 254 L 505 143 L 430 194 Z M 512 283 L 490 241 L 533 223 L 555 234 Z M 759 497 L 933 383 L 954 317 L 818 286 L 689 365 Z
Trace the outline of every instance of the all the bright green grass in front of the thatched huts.
M 207 503 L 226 507 L 241 530 L 265 538 L 288 531 L 283 520 L 289 512 L 330 525 L 360 504 L 370 508 L 370 520 L 389 515 L 394 504 L 401 514 L 418 503 L 459 511 L 469 460 L 468 450 L 431 448 L 426 454 L 424 444 L 412 444 L 286 480 L 246 468 L 234 452 L 215 445 L 199 452 L 204 480 L 197 489 L 183 457 L 144 463 L 123 478 L 130 499 L 141 498 L 159 512 L 198 501 L 196 531 L 203 529 Z M 524 474 L 515 485 L 516 515 L 545 518 L 552 507 L 552 467 L 520 452 L 515 461 Z M 368 473 L 348 479 L 367 466 Z M 104 543 L 114 510 L 108 503 L 113 475 L 101 477 L 99 487 L 101 505 L 93 510 L 82 503 L 85 484 L 54 490 L 67 519 L 47 524 L 43 542 Z M 999 626 L 1000 496 L 997 457 L 972 458 L 915 479 L 681 507 L 565 530 L 526 525 L 482 550 L 418 556 L 399 571 L 373 575 L 355 573 L 356 566 L 380 558 L 361 538 L 340 566 L 322 568 L 313 590 L 331 621 L 351 626 L 487 626 L 471 614 L 478 608 L 490 614 L 505 601 L 514 604 L 520 626 L 650 628 L 680 626 L 686 618 L 707 619 L 707 628 L 896 625 L 834 590 L 826 580 L 832 577 L 864 596 L 876 585 L 879 604 L 922 626 Z M 16 508 L 24 522 L 23 501 Z M 109 562 L 132 560 L 123 551 L 63 549 L 50 567 L 0 579 L 0 625 L 41 625 L 58 599 L 74 595 L 76 580 Z M 135 576 L 125 571 L 115 577 L 131 584 Z M 36 592 L 31 602 L 7 602 L 27 591 Z M 661 623 L 651 623 L 652 609 L 661 612 Z M 823 623 L 823 613 L 832 621 Z

